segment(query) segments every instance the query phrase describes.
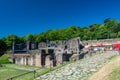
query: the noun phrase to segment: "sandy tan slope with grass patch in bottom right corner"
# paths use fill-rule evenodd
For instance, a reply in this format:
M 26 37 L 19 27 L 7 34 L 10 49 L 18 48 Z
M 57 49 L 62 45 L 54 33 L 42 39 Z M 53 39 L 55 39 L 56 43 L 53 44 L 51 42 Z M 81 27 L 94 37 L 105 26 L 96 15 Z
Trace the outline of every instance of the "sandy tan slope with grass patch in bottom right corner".
M 120 80 L 120 56 L 112 59 L 88 80 Z

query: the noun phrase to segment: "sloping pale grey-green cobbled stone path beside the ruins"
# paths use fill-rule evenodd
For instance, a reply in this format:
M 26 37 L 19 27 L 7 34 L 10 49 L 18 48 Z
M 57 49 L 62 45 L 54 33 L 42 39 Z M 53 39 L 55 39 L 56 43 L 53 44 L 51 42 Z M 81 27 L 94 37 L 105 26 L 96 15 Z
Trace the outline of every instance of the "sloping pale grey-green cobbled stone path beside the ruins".
M 116 55 L 116 52 L 108 51 L 84 58 L 42 75 L 36 80 L 86 80 L 92 73 L 109 62 L 109 58 L 114 55 Z

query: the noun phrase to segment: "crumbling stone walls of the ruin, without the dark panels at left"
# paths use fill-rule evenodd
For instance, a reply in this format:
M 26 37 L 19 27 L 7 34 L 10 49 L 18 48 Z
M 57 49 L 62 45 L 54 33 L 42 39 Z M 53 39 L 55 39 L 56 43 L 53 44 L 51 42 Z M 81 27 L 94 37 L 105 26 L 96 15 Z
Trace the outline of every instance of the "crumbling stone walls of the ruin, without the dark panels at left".
M 32 65 L 38 67 L 53 67 L 60 65 L 66 61 L 69 61 L 70 56 L 73 53 L 80 53 L 80 38 L 74 38 L 71 40 L 64 40 L 57 44 L 54 41 L 49 43 L 38 43 L 38 49 L 34 50 L 35 44 L 30 44 L 31 49 L 28 53 L 14 53 L 16 57 L 16 64 Z M 29 56 L 27 56 L 29 55 Z M 66 58 L 66 59 L 65 59 Z

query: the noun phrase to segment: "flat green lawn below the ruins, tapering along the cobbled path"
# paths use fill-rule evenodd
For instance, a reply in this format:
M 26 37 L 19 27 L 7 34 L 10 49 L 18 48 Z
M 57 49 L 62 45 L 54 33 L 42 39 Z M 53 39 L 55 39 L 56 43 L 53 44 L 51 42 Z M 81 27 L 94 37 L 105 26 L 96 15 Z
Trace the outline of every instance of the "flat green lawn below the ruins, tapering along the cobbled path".
M 63 65 L 59 65 L 53 68 L 40 68 L 40 67 L 35 67 L 35 66 L 25 66 L 25 65 L 19 65 L 19 64 L 3 64 L 4 67 L 0 67 L 0 80 L 6 80 L 8 78 L 29 72 L 27 70 L 20 70 L 19 68 L 25 68 L 25 69 L 30 69 L 30 70 L 38 70 L 38 72 L 35 73 L 35 77 L 39 77 L 43 74 L 46 74 L 50 71 L 56 70 L 58 68 L 61 68 L 71 62 L 68 62 Z M 29 73 L 17 78 L 14 78 L 13 80 L 33 80 L 34 79 L 34 73 Z

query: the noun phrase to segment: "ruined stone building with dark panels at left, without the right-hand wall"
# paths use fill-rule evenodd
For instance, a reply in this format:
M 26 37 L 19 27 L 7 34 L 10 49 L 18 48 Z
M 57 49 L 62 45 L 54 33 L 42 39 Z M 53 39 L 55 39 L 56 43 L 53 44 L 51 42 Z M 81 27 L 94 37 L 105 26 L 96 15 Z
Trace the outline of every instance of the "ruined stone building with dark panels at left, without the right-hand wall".
M 82 48 L 79 37 L 58 43 L 54 41 L 13 43 L 11 58 L 15 64 L 53 67 L 63 64 L 71 58 L 79 59 L 80 55 L 83 54 Z

